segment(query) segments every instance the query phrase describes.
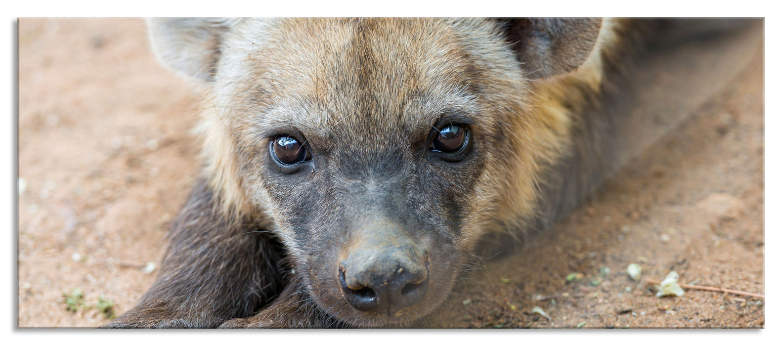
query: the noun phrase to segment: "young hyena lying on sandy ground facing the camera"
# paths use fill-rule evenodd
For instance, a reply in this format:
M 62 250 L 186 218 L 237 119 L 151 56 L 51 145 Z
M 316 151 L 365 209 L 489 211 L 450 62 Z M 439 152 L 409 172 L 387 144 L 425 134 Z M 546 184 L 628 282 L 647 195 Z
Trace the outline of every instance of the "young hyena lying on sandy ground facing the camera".
M 109 327 L 414 326 L 492 243 L 617 168 L 608 106 L 659 25 L 153 19 L 206 89 L 203 178 Z M 492 241 L 500 240 L 500 241 Z

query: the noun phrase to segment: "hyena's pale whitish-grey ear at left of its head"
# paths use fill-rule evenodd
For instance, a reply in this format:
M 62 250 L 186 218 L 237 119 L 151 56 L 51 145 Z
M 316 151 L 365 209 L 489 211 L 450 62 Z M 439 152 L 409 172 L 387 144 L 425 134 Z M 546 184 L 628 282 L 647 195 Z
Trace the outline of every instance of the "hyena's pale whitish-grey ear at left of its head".
M 235 19 L 149 18 L 152 52 L 163 65 L 197 81 L 213 81 L 222 36 Z

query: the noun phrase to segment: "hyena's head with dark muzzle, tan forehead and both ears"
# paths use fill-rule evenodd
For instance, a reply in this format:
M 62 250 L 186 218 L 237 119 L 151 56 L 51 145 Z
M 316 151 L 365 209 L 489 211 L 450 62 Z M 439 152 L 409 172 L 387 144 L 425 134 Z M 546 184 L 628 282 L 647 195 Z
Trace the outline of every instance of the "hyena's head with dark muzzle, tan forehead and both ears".
M 578 67 L 600 27 L 149 22 L 163 63 L 209 88 L 206 173 L 224 212 L 271 218 L 297 284 L 354 326 L 427 314 L 483 233 L 533 214 L 567 119 L 533 116 L 529 78 Z

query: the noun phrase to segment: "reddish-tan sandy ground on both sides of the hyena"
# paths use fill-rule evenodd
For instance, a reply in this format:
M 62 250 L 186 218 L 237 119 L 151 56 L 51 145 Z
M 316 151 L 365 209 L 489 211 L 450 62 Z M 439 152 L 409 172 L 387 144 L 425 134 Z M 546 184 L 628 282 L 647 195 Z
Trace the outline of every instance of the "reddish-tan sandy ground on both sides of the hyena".
M 155 62 L 142 20 L 23 19 L 19 35 L 18 326 L 99 326 L 99 297 L 120 314 L 156 275 L 199 171 L 198 96 Z M 763 327 L 763 299 L 643 283 L 675 270 L 764 293 L 762 51 L 745 56 L 601 193 L 462 280 L 430 326 Z

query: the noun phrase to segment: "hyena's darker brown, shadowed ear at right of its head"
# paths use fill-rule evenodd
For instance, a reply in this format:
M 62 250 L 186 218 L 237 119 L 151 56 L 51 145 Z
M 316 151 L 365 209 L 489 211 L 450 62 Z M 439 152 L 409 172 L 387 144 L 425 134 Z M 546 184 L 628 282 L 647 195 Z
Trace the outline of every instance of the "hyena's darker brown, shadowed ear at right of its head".
M 500 19 L 526 77 L 566 74 L 581 66 L 597 41 L 600 18 Z

